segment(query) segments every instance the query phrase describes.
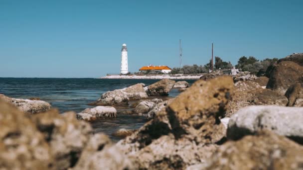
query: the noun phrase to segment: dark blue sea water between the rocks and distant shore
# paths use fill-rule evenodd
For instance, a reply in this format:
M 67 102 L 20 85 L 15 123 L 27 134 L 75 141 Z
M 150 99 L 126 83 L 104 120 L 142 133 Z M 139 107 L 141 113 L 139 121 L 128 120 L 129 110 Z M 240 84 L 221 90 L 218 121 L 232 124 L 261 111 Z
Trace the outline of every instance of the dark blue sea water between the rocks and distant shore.
M 60 113 L 66 111 L 81 112 L 88 105 L 96 101 L 106 92 L 128 87 L 138 83 L 151 85 L 159 80 L 125 80 L 125 79 L 69 79 L 69 78 L 0 78 L 0 93 L 14 98 L 39 97 L 40 100 L 49 102 L 53 108 L 59 109 Z M 183 80 L 177 80 L 183 81 Z M 186 80 L 189 84 L 195 80 Z M 180 92 L 172 89 L 168 96 L 156 97 L 163 100 L 175 97 Z M 154 97 L 151 97 L 154 98 Z M 130 101 L 132 103 L 138 101 Z M 119 109 L 132 109 L 129 106 Z M 114 141 L 119 138 L 112 134 L 121 128 L 139 129 L 147 122 L 145 116 L 117 115 L 116 118 L 97 120 L 91 122 L 95 133 L 105 133 Z

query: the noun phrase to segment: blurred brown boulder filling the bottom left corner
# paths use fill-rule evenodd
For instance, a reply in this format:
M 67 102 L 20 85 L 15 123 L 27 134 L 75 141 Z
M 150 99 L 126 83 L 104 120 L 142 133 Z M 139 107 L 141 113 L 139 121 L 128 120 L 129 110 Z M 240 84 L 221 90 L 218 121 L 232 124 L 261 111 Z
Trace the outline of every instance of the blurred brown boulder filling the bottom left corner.
M 0 101 L 0 169 L 54 169 L 43 135 L 20 110 Z

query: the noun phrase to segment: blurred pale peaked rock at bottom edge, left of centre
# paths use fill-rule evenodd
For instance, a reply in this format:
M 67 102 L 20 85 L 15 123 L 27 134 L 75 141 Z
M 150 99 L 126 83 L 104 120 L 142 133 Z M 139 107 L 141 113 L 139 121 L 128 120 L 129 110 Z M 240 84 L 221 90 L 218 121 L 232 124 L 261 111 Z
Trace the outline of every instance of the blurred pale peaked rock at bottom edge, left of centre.
M 72 170 L 133 170 L 129 159 L 104 134 L 92 137 Z

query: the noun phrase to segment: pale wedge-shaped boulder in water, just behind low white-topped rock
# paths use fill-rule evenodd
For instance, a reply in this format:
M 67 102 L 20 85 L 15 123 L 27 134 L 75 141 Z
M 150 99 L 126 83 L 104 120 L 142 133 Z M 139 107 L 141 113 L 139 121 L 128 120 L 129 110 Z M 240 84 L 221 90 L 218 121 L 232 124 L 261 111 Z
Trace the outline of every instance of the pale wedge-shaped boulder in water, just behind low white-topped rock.
M 94 105 L 115 105 L 127 103 L 129 100 L 148 98 L 143 88 L 144 84 L 132 85 L 123 89 L 116 89 L 102 94 L 101 98 L 92 103 Z

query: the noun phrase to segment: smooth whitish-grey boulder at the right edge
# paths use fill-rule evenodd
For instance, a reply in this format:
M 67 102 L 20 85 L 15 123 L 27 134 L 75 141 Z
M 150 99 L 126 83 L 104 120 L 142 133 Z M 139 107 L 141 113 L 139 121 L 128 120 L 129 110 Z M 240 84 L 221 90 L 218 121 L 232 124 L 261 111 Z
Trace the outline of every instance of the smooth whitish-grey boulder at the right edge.
M 301 107 L 250 106 L 240 109 L 230 118 L 227 138 L 237 140 L 267 129 L 303 143 L 301 122 L 303 122 Z

